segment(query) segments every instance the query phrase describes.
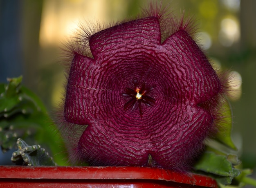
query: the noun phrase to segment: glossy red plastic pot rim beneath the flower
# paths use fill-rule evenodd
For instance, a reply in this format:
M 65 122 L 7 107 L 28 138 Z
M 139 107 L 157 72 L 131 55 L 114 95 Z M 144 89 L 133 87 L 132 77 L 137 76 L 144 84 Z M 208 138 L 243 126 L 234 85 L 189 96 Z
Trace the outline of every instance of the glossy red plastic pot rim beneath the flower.
M 0 187 L 217 188 L 210 177 L 146 167 L 0 166 Z

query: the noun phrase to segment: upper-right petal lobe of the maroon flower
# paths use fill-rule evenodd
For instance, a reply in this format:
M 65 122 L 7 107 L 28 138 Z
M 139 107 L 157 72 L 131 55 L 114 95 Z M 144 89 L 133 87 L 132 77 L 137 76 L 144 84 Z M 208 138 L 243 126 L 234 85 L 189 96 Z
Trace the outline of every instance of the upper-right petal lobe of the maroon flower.
M 168 63 L 173 72 L 175 88 L 180 96 L 198 105 L 220 91 L 220 80 L 206 56 L 189 34 L 180 30 L 167 38 L 163 46 L 168 50 Z

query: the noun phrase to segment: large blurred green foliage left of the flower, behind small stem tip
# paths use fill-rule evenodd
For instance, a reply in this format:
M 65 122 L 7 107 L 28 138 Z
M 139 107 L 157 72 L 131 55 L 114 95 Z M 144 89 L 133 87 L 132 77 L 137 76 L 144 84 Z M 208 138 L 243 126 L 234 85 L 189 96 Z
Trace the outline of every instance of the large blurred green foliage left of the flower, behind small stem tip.
M 21 85 L 22 76 L 0 84 L 0 146 L 3 152 L 14 148 L 17 138 L 40 143 L 52 151 L 58 165 L 65 165 L 63 141 L 40 99 Z

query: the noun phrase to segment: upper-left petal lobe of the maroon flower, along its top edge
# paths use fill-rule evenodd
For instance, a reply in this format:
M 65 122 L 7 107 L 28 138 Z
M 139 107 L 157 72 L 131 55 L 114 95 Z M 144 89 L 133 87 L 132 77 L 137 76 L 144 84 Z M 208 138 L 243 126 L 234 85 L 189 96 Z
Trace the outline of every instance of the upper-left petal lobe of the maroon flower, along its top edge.
M 102 30 L 90 37 L 90 48 L 94 58 L 120 51 L 121 47 L 138 48 L 137 45 L 161 43 L 159 21 L 156 17 L 125 22 Z

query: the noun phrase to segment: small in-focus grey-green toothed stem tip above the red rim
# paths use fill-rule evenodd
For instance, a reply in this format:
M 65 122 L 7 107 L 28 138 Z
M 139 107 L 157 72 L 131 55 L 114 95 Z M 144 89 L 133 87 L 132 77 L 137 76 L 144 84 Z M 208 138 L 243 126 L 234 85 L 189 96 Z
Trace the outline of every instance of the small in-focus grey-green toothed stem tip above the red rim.
M 40 145 L 28 145 L 22 139 L 17 140 L 18 150 L 13 152 L 11 161 L 16 165 L 56 166 L 52 157 Z

